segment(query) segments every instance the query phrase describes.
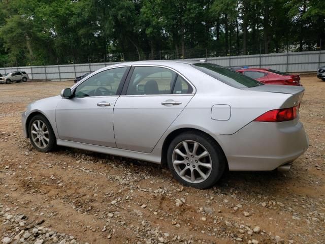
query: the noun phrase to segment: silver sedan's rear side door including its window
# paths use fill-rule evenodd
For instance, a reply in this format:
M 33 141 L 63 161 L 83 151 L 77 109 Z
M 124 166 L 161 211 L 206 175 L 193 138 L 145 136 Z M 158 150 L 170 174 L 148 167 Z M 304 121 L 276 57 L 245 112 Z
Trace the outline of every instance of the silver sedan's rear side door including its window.
M 117 147 L 150 153 L 193 96 L 193 86 L 170 68 L 133 67 L 114 108 Z

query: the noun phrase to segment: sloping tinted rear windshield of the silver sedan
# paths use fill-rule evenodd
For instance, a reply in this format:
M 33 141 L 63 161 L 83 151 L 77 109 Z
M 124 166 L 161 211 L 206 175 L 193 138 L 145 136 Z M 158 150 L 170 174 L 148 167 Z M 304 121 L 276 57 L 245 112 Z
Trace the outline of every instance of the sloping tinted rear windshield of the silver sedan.
M 192 65 L 194 68 L 222 81 L 225 84 L 236 88 L 247 88 L 263 85 L 263 83 L 242 75 L 236 71 L 224 68 L 215 64 L 197 63 Z

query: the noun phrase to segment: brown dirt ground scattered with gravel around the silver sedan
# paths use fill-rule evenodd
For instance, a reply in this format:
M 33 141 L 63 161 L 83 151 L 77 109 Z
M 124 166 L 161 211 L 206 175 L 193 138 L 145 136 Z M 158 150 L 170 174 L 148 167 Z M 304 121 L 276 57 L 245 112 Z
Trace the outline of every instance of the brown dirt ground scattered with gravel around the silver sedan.
M 302 84 L 306 153 L 289 172 L 229 172 L 208 190 L 183 188 L 142 161 L 63 147 L 39 153 L 22 136 L 20 114 L 72 82 L 0 85 L 0 240 L 325 243 L 325 82 Z

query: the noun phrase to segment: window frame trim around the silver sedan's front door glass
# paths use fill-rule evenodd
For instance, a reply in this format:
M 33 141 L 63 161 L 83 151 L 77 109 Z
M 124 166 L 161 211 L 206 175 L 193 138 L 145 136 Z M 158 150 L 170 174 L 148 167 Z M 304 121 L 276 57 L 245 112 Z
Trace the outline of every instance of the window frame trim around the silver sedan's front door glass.
M 118 88 L 117 88 L 117 91 L 116 91 L 116 95 L 113 95 L 113 96 L 93 96 L 93 97 L 75 97 L 75 93 L 76 93 L 76 90 L 77 90 L 77 87 L 79 85 L 81 85 L 83 82 L 87 81 L 88 79 L 90 79 L 92 76 L 96 75 L 96 74 L 99 74 L 99 73 L 102 73 L 102 72 L 105 72 L 105 71 L 108 71 L 108 70 L 113 70 L 113 69 L 118 69 L 118 68 L 124 68 L 126 67 L 126 70 L 125 70 L 125 73 L 123 74 L 123 77 L 120 81 L 120 84 L 118 85 Z M 125 83 L 125 79 L 127 78 L 128 76 L 128 73 L 129 71 L 131 70 L 132 66 L 131 65 L 123 65 L 123 66 L 115 66 L 115 67 L 109 67 L 108 69 L 104 69 L 104 70 L 101 70 L 99 72 L 93 72 L 91 73 L 90 75 L 86 76 L 85 80 L 83 80 L 82 82 L 78 82 L 76 83 L 75 85 L 73 85 L 71 87 L 71 93 L 73 94 L 73 97 L 72 99 L 75 99 L 75 98 L 106 98 L 106 97 L 110 97 L 110 98 L 113 98 L 113 97 L 119 97 L 121 95 L 121 92 L 122 92 L 122 88 L 124 86 L 124 83 Z

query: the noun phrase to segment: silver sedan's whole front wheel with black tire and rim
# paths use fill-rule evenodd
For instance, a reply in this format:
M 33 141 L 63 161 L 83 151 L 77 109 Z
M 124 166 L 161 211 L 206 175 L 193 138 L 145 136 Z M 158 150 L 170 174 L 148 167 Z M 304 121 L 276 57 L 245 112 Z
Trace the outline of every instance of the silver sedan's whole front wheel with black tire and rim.
M 44 115 L 38 114 L 30 119 L 28 135 L 31 144 L 38 151 L 47 153 L 56 147 L 56 138 L 53 129 Z

